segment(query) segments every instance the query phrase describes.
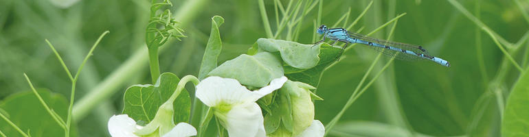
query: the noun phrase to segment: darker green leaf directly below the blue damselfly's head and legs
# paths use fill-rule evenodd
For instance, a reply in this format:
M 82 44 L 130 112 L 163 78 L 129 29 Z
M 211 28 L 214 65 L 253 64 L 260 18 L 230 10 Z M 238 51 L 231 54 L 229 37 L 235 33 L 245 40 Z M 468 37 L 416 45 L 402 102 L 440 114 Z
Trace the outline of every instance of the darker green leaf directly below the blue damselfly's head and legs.
M 333 47 L 327 43 L 321 43 L 317 45 L 319 48 L 319 62 L 316 66 L 311 69 L 296 69 L 291 66 L 284 66 L 286 77 L 289 77 L 292 81 L 303 82 L 311 86 L 317 87 L 319 83 L 319 77 L 327 66 L 332 64 L 337 58 L 339 58 L 341 48 Z

